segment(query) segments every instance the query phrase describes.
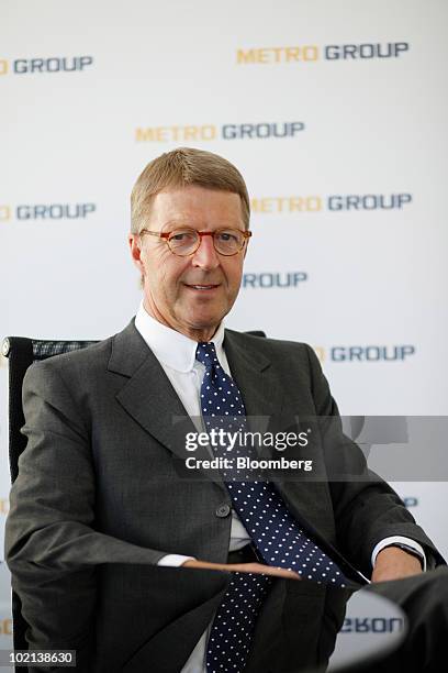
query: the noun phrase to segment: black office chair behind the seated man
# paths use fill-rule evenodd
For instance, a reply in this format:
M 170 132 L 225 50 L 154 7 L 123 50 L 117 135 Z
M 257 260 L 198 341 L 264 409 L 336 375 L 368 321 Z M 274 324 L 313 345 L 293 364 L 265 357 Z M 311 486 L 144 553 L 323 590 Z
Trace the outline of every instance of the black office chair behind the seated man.
M 261 331 L 249 331 L 254 336 L 266 336 Z M 11 484 L 19 474 L 19 456 L 26 446 L 26 438 L 21 432 L 25 423 L 22 408 L 22 385 L 26 369 L 33 362 L 54 355 L 85 349 L 98 341 L 47 341 L 25 336 L 3 339 L 2 354 L 9 361 L 9 465 Z M 14 650 L 27 650 L 25 638 L 29 625 L 22 616 L 20 597 L 12 592 L 12 630 Z M 19 669 L 16 669 L 19 673 Z

